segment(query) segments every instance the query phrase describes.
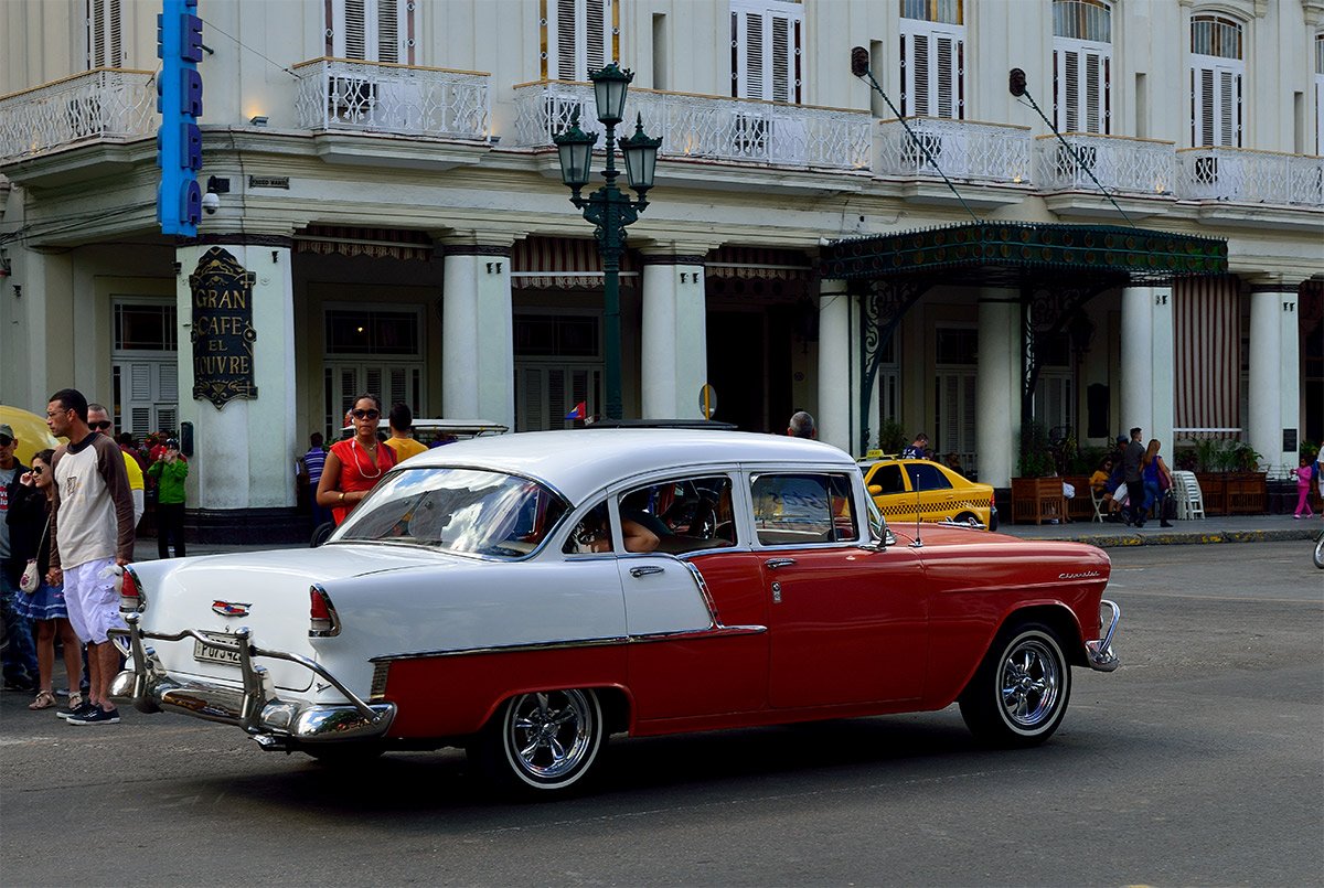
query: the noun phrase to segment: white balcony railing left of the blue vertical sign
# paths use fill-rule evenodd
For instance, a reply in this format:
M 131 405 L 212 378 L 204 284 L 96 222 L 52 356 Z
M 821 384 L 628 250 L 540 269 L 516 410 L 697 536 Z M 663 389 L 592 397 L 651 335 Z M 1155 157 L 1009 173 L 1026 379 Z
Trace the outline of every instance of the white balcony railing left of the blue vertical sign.
M 138 139 L 155 128 L 152 73 L 98 67 L 0 97 L 0 161 L 93 139 Z

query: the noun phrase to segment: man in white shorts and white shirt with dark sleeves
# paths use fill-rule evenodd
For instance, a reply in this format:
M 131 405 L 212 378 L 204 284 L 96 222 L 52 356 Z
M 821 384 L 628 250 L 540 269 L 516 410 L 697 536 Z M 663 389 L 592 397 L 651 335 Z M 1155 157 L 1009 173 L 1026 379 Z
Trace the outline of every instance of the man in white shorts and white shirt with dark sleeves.
M 111 629 L 123 629 L 110 568 L 134 557 L 134 498 L 124 458 L 109 437 L 87 425 L 87 398 L 61 389 L 46 405 L 46 426 L 69 438 L 52 459 L 56 502 L 50 513 L 50 585 L 64 582 L 69 622 L 87 644 L 87 703 L 68 713 L 71 725 L 117 724 L 110 680 L 119 668 Z M 111 574 L 111 576 L 105 576 Z

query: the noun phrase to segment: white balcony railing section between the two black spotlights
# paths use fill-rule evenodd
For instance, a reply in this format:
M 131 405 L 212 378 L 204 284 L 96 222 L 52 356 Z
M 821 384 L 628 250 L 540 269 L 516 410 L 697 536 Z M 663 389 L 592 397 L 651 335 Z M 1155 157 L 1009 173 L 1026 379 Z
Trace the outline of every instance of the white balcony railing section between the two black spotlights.
M 1002 123 L 947 118 L 906 118 L 878 122 L 878 165 L 884 176 L 935 176 L 1022 184 L 1033 179 L 1030 131 Z M 916 144 L 928 150 L 928 156 Z M 931 161 L 937 161 L 935 167 Z

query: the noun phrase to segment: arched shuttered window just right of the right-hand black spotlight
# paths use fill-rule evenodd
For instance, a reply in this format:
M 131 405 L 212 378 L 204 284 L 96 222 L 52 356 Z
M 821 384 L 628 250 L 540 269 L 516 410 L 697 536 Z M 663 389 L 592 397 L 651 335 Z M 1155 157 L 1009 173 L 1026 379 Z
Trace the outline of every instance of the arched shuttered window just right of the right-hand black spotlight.
M 1102 0 L 1053 3 L 1053 124 L 1112 132 L 1112 11 Z

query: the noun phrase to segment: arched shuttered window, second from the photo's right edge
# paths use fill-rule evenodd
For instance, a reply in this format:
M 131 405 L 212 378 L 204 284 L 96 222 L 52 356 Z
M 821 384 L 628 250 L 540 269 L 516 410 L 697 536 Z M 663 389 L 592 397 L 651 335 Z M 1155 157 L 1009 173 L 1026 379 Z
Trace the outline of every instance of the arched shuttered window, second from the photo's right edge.
M 1221 16 L 1190 21 L 1190 144 L 1242 144 L 1242 95 L 1246 61 L 1242 26 Z

